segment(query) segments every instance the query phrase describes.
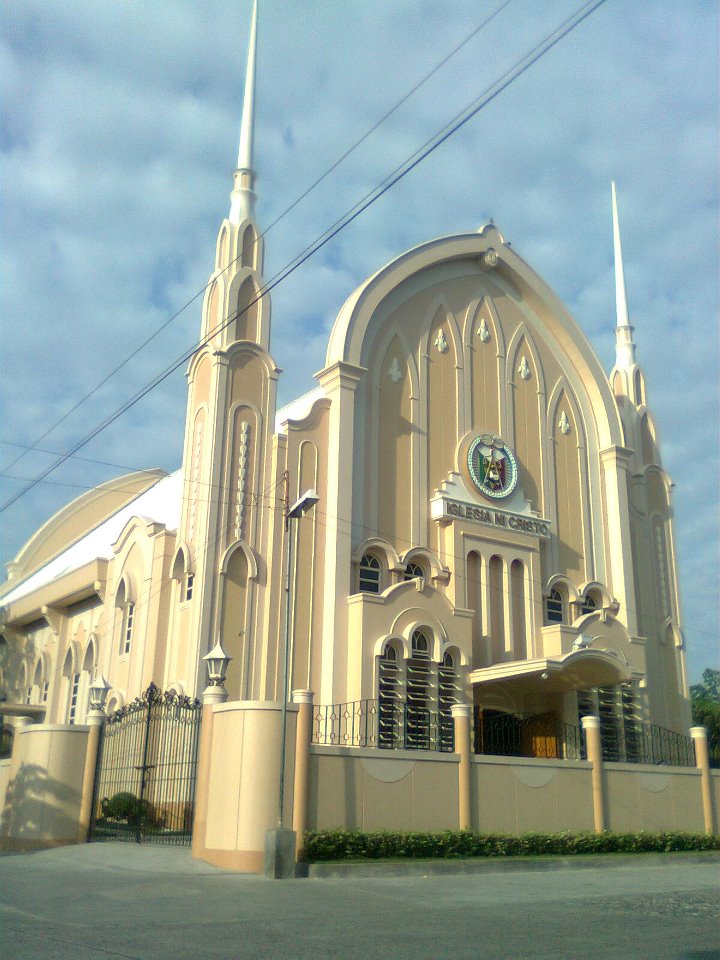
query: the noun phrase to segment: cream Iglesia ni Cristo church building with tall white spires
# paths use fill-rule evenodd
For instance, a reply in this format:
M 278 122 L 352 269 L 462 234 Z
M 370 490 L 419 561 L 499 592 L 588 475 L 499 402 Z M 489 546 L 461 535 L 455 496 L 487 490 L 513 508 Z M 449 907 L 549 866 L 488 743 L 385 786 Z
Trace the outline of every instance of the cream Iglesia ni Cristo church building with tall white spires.
M 84 494 L 9 565 L 7 721 L 82 724 L 98 675 L 109 712 L 150 682 L 194 697 L 218 641 L 230 701 L 281 701 L 287 627 L 287 689 L 376 703 L 380 746 L 399 744 L 400 715 L 405 746 L 413 723 L 414 745 L 442 740 L 455 703 L 488 724 L 595 714 L 609 736 L 639 721 L 686 733 L 671 482 L 635 358 L 614 191 L 609 375 L 490 223 L 361 284 L 317 386 L 277 409 L 254 76 L 253 23 L 182 468 Z M 286 507 L 308 489 L 319 500 L 297 521 L 287 581 Z

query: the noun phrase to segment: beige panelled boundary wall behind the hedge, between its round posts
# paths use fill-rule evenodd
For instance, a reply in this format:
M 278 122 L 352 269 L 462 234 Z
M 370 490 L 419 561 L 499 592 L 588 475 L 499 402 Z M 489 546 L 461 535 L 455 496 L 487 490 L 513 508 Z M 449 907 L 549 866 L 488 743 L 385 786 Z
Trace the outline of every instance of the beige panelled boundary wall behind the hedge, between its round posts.
M 315 746 L 308 829 L 457 830 L 457 754 Z M 694 767 L 604 764 L 607 829 L 703 833 Z M 720 771 L 712 772 L 715 804 Z M 592 764 L 473 756 L 471 829 L 479 833 L 589 833 Z

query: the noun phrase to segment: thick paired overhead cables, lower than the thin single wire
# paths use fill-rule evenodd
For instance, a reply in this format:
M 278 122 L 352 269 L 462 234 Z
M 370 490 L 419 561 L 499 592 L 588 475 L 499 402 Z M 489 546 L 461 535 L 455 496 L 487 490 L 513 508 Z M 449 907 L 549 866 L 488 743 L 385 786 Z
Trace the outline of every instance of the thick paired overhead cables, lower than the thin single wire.
M 484 107 L 491 103 L 503 90 L 510 86 L 515 80 L 521 77 L 527 70 L 530 69 L 533 64 L 535 64 L 541 57 L 548 53 L 553 47 L 555 47 L 564 37 L 566 37 L 572 30 L 578 27 L 584 20 L 587 19 L 592 13 L 595 12 L 599 7 L 601 7 L 606 0 L 589 0 L 589 2 L 583 4 L 572 16 L 564 20 L 560 26 L 548 34 L 540 43 L 536 44 L 532 50 L 527 53 L 524 57 L 518 60 L 513 67 L 507 70 L 502 76 L 496 80 L 490 87 L 480 94 L 475 100 L 473 100 L 461 113 L 457 114 L 453 120 L 451 120 L 445 127 L 443 127 L 437 134 L 435 134 L 430 140 L 428 140 L 419 150 L 417 150 L 411 157 L 409 157 L 403 164 L 396 168 L 392 174 L 390 174 L 385 180 L 382 181 L 374 190 L 366 194 L 366 196 L 358 201 L 358 203 L 351 208 L 343 217 L 337 220 L 331 227 L 329 227 L 320 237 L 317 238 L 312 244 L 305 248 L 294 260 L 292 260 L 285 268 L 279 271 L 275 277 L 267 283 L 263 289 L 260 291 L 257 297 L 247 304 L 245 310 L 249 310 L 254 306 L 263 296 L 267 295 L 271 290 L 273 290 L 278 284 L 286 280 L 292 273 L 294 273 L 303 263 L 314 256 L 319 250 L 321 250 L 330 240 L 336 237 L 342 230 L 348 227 L 353 221 L 355 221 L 368 207 L 376 203 L 382 196 L 384 196 L 392 187 L 394 187 L 400 180 L 402 180 L 408 173 L 414 170 L 420 163 L 423 162 L 427 157 L 429 157 L 438 147 L 445 143 L 451 136 L 457 133 L 465 124 L 467 124 L 473 117 L 475 117 Z M 224 329 L 230 322 L 232 322 L 235 317 L 226 319 L 221 325 L 220 329 Z M 187 361 L 193 356 L 194 353 L 202 346 L 207 344 L 211 338 L 217 333 L 217 330 L 211 331 L 207 337 L 198 343 L 194 344 L 189 350 L 183 352 L 183 354 L 178 357 L 173 363 L 171 363 L 165 370 L 157 374 L 151 381 L 145 384 L 133 397 L 123 403 L 114 413 L 110 414 L 104 420 L 102 420 L 97 426 L 95 426 L 88 434 L 86 434 L 81 440 L 77 441 L 71 449 L 65 453 L 62 457 L 43 470 L 34 480 L 28 483 L 22 490 L 18 491 L 12 497 L 5 501 L 5 503 L 0 507 L 0 513 L 4 512 L 8 507 L 12 506 L 13 503 L 16 503 L 21 497 L 33 489 L 38 483 L 49 476 L 54 470 L 59 466 L 65 463 L 70 459 L 78 450 L 82 449 L 86 444 L 93 440 L 99 433 L 114 423 L 115 420 L 119 419 L 123 414 L 127 413 L 136 403 L 138 403 L 143 397 L 159 386 L 163 381 L 165 381 L 172 373 L 174 373 L 179 367 L 187 363 Z

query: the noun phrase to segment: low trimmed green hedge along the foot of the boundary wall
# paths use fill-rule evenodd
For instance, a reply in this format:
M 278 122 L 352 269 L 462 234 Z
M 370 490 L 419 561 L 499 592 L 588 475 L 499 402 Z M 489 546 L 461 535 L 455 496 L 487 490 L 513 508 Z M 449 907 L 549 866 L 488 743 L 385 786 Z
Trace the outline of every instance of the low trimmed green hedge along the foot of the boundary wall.
M 720 850 L 720 836 L 696 833 L 362 833 L 312 830 L 305 834 L 308 863 L 336 860 L 543 857 L 587 853 L 670 853 Z

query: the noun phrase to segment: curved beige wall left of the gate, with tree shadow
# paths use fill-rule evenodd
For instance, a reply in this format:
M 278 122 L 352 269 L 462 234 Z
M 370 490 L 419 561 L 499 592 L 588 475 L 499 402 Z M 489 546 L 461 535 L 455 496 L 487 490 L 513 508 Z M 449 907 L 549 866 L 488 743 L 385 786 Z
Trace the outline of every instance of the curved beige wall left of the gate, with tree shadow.
M 77 842 L 88 729 L 43 724 L 15 732 L 0 847 Z

